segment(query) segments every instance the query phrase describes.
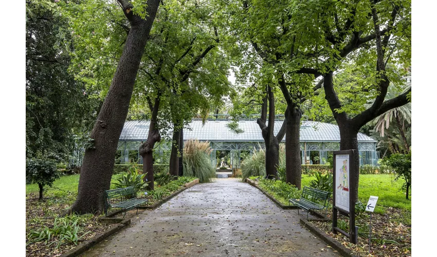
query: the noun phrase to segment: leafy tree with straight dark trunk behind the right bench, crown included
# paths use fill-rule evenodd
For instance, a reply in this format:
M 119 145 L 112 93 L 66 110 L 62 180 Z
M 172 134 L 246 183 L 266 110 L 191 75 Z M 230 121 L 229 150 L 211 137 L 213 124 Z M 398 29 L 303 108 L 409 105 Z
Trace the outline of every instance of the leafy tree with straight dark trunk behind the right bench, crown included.
M 275 81 L 274 84 L 282 91 L 287 105 L 285 112 L 284 130 L 286 134 L 286 181 L 296 187 L 301 186 L 301 157 L 300 157 L 300 119 L 302 111 L 300 105 L 316 90 L 321 83 L 313 85 L 311 76 L 296 74 L 296 70 L 302 67 L 302 62 L 297 59 L 302 55 L 300 47 L 311 39 L 304 31 L 304 21 L 300 19 L 300 13 L 293 13 L 290 5 L 297 5 L 293 1 L 242 1 L 229 5 L 230 12 L 234 14 L 231 27 L 238 33 L 241 41 L 249 43 L 247 55 L 250 52 L 258 54 L 263 74 L 268 75 Z M 285 11 L 284 11 L 285 10 Z M 312 18 L 311 18 L 312 19 Z M 263 22 L 259 22 L 263 21 Z M 300 25 L 300 26 L 299 26 Z M 305 72 L 300 72 L 305 73 Z M 272 102 L 272 101 L 270 101 Z M 273 105 L 274 106 L 274 105 Z M 274 109 L 269 111 L 274 117 Z M 269 127 L 271 124 L 271 127 Z M 262 124 L 260 127 L 272 130 L 273 124 L 269 118 L 269 126 Z M 266 134 L 266 136 L 269 133 Z M 282 134 L 279 134 L 282 136 Z M 267 136 L 267 144 L 272 144 L 275 152 L 279 144 L 274 142 L 274 136 Z M 282 138 L 282 137 L 280 137 Z M 275 159 L 276 161 L 276 159 Z M 274 169 L 275 171 L 276 169 Z

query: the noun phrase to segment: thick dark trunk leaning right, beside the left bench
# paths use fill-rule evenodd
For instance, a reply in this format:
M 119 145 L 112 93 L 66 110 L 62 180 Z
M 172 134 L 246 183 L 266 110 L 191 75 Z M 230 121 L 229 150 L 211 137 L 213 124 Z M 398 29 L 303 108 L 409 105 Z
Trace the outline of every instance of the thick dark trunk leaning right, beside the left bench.
M 114 157 L 123 129 L 135 79 L 145 44 L 158 10 L 159 0 L 147 1 L 145 20 L 132 12 L 133 6 L 119 1 L 131 23 L 111 87 L 91 133 L 94 147 L 85 150 L 79 179 L 78 196 L 72 213 L 101 213 L 104 191 L 110 189 Z

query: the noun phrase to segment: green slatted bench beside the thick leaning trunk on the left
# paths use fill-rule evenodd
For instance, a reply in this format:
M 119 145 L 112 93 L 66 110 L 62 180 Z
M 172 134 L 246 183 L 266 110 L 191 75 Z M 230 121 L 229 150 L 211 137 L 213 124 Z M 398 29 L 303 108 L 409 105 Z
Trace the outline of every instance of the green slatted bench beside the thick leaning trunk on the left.
M 119 208 L 121 210 L 124 210 L 124 215 L 126 215 L 126 212 L 129 210 L 132 210 L 134 208 L 137 208 L 137 214 L 138 214 L 138 207 L 140 205 L 143 205 L 144 203 L 148 202 L 148 199 L 138 199 L 136 198 L 136 192 L 134 187 L 127 187 L 127 188 L 117 188 L 112 190 L 105 191 L 105 215 L 108 215 L 108 208 Z M 114 199 L 120 198 L 120 201 L 115 202 Z M 123 215 L 123 218 L 124 218 Z

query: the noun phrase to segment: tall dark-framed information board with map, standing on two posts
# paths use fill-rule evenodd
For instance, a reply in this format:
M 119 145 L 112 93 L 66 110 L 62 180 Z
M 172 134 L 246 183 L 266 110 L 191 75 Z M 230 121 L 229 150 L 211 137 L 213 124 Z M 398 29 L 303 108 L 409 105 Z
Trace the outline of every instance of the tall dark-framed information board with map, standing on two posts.
M 358 241 L 358 227 L 355 226 L 355 176 L 354 150 L 334 151 L 333 167 L 333 206 L 332 206 L 332 232 L 348 236 L 351 243 Z M 349 217 L 349 233 L 337 227 L 338 214 Z

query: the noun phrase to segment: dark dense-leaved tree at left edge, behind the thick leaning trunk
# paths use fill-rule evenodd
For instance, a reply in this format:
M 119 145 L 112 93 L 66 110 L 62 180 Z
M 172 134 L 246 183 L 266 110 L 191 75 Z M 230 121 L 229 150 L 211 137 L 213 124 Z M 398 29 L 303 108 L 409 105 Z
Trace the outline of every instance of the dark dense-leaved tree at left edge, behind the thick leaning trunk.
M 74 44 L 61 12 L 52 1 L 26 2 L 26 158 L 52 152 L 66 161 L 74 134 L 95 120 L 99 107 L 68 72 Z

